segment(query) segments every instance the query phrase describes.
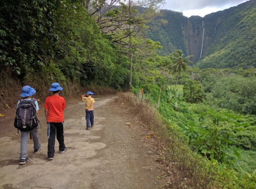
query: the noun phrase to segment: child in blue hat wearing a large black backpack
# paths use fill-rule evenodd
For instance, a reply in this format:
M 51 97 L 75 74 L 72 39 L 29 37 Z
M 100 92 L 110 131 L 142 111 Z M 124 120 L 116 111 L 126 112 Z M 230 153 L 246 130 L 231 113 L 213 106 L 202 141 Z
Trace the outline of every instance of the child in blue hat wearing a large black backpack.
M 36 114 L 39 112 L 39 106 L 36 99 L 32 98 L 35 94 L 35 90 L 30 86 L 24 86 L 22 88 L 23 98 L 19 99 L 16 109 L 16 117 L 14 120 L 14 126 L 22 133 L 20 137 L 20 161 L 19 164 L 26 164 L 29 161 L 27 157 L 27 141 L 29 133 L 32 136 L 34 142 L 34 153 L 38 153 L 41 144 L 38 138 L 38 119 Z

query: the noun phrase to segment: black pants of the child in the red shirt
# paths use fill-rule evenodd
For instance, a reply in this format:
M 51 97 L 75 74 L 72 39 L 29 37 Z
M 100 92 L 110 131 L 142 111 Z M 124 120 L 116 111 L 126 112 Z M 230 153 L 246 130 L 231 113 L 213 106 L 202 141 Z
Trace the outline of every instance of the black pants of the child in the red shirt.
M 55 135 L 59 142 L 59 151 L 63 151 L 66 146 L 64 144 L 64 131 L 63 123 L 48 123 L 48 157 L 54 156 L 54 145 L 55 145 Z

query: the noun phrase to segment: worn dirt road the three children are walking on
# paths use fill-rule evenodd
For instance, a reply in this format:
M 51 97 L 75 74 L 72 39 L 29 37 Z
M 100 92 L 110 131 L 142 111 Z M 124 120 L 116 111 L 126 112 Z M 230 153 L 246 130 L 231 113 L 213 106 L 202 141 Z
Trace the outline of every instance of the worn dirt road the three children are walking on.
M 84 103 L 67 103 L 65 144 L 69 150 L 47 158 L 47 126 L 40 104 L 42 129 L 39 153 L 28 142 L 30 161 L 19 165 L 20 133 L 13 126 L 15 111 L 0 117 L 0 188 L 159 188 L 163 165 L 156 161 L 157 147 L 150 132 L 138 124 L 115 96 L 95 97 L 95 126 L 86 130 Z M 39 102 L 40 103 L 40 102 Z M 125 123 L 130 122 L 128 126 Z

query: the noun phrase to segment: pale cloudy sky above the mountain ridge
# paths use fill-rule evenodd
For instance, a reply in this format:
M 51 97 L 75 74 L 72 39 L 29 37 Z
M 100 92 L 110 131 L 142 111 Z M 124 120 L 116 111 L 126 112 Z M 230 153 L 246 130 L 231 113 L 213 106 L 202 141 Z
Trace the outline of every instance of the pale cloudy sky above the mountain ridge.
M 237 6 L 248 0 L 166 0 L 162 9 L 183 12 L 183 15 L 205 16 L 212 12 L 222 11 L 230 7 Z

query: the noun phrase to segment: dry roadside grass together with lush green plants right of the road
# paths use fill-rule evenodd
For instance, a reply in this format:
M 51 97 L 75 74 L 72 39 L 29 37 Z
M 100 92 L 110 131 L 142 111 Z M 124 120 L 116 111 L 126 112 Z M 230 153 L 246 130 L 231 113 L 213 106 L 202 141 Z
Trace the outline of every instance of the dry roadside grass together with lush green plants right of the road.
M 255 117 L 187 103 L 174 88 L 161 93 L 157 107 L 158 90 L 151 85 L 143 95 L 135 89 L 119 93 L 117 102 L 131 105 L 131 113 L 163 141 L 159 158 L 176 170 L 167 174 L 166 187 L 255 188 Z

